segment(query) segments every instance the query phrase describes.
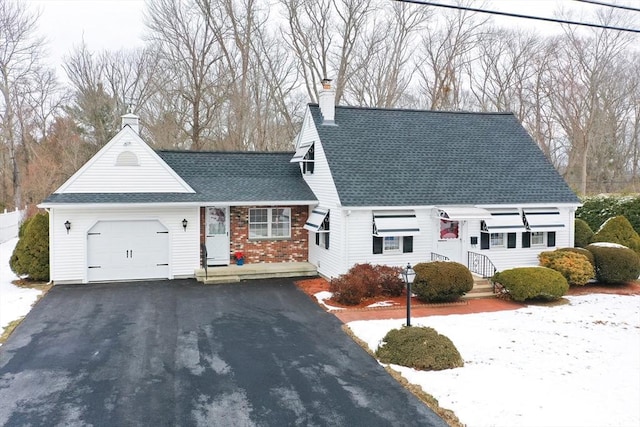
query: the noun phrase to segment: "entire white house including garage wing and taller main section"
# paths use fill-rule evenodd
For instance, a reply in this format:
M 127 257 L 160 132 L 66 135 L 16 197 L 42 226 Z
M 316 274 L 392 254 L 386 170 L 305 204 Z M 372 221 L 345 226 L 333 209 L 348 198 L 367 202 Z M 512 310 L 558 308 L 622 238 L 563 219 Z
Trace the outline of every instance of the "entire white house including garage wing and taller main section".
M 200 265 L 449 259 L 478 274 L 573 246 L 580 202 L 512 114 L 335 106 L 295 153 L 154 151 L 138 118 L 40 207 L 55 283 L 193 277 Z

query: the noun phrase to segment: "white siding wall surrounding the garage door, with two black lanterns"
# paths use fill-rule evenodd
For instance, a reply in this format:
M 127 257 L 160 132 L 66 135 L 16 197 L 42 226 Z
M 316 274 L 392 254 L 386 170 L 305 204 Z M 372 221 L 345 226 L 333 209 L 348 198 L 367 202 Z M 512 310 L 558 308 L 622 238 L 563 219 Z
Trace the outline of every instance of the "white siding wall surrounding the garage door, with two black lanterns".
M 188 222 L 187 229 L 182 220 Z M 200 263 L 200 215 L 198 207 L 86 208 L 65 206 L 52 208 L 50 227 L 51 279 L 55 283 L 86 283 L 87 232 L 98 221 L 157 220 L 169 231 L 168 278 L 193 277 Z M 71 223 L 67 234 L 64 222 Z

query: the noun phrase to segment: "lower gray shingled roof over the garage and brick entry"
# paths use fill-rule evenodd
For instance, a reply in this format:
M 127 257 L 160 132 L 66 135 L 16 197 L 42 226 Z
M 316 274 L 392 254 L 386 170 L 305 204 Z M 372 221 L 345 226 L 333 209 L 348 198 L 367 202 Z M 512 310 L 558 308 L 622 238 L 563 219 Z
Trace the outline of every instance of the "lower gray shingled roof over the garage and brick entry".
M 316 197 L 293 153 L 158 151 L 195 191 L 52 194 L 43 203 L 300 202 Z

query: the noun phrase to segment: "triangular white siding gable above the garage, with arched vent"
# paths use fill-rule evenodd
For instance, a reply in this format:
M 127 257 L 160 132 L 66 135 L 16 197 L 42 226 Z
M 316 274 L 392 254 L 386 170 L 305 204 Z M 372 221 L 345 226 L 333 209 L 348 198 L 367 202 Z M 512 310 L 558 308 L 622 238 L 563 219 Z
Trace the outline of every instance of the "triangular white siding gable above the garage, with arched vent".
M 123 158 L 125 162 L 123 166 Z M 127 160 L 128 158 L 128 160 Z M 133 166 L 133 161 L 137 165 Z M 192 193 L 131 128 L 118 133 L 56 193 Z

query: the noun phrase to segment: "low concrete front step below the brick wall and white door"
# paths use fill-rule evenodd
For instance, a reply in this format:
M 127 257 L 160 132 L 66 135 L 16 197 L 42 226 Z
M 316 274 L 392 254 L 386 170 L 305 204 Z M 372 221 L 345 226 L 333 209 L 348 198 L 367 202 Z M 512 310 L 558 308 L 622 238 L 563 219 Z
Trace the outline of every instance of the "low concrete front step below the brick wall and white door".
M 317 276 L 318 271 L 308 262 L 282 262 L 228 265 L 196 270 L 196 280 L 204 284 L 234 283 L 242 280 L 274 279 L 280 277 Z

